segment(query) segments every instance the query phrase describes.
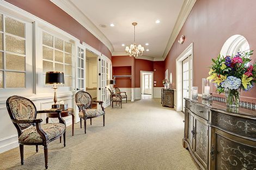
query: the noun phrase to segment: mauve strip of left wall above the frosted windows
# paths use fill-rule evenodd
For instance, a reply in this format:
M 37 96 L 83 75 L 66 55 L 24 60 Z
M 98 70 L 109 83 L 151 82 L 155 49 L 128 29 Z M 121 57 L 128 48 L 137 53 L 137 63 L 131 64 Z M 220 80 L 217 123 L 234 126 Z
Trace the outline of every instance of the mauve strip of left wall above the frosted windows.
M 65 11 L 57 7 L 48 0 L 5 0 L 16 7 L 19 7 L 29 13 L 41 18 L 42 20 L 53 24 L 65 32 L 75 36 L 80 41 L 86 42 L 88 45 L 97 49 L 97 51 L 106 55 L 111 59 L 109 49 L 86 28 L 78 23 L 74 18 Z

